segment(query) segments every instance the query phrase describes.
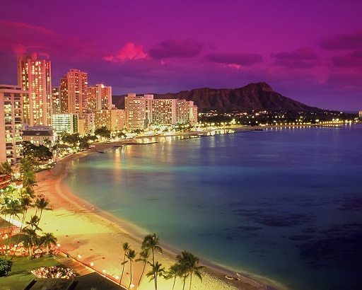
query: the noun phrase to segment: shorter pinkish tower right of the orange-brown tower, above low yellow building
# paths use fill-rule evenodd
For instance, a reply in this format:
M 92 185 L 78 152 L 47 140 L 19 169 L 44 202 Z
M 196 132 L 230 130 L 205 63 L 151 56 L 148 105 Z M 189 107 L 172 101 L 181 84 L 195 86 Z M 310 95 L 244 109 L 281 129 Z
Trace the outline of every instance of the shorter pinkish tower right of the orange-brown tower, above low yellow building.
M 88 109 L 110 110 L 112 108 L 112 87 L 96 84 L 88 86 Z

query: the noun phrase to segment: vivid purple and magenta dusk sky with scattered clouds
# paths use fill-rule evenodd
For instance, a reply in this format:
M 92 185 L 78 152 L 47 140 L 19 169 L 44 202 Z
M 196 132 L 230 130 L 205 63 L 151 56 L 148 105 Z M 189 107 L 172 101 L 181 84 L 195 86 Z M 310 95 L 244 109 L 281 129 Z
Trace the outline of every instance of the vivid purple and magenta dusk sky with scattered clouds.
M 113 94 L 239 88 L 274 91 L 329 110 L 362 110 L 360 0 L 3 1 L 0 83 L 16 54 L 52 61 Z

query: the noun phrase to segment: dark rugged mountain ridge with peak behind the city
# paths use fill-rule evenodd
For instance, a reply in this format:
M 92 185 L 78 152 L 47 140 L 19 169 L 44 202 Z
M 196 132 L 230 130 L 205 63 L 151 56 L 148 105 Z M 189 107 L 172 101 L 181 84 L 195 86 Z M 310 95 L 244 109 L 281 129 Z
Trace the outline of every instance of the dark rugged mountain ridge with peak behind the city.
M 243 88 L 195 88 L 192 91 L 179 93 L 154 93 L 155 99 L 178 98 L 193 100 L 200 111 L 244 111 L 244 110 L 290 110 L 318 111 L 303 103 L 276 93 L 267 83 L 250 83 Z M 119 109 L 124 109 L 124 95 L 113 95 L 112 103 Z

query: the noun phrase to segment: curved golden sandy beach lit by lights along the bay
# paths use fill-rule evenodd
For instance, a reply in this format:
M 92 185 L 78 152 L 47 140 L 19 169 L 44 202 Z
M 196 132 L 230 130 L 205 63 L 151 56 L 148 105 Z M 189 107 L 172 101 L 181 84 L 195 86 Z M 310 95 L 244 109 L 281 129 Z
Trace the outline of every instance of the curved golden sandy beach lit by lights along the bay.
M 96 144 L 93 151 L 103 151 L 111 147 L 112 144 Z M 84 264 L 116 279 L 122 273 L 124 255 L 122 244 L 128 242 L 131 248 L 139 253 L 141 241 L 148 232 L 94 208 L 92 204 L 73 195 L 64 185 L 62 181 L 69 174 L 69 166 L 88 153 L 91 151 L 67 156 L 62 161 L 58 161 L 50 174 L 47 171 L 37 173 L 38 186 L 35 187 L 35 192 L 37 195 L 45 195 L 53 209 L 43 211 L 39 226 L 44 232 L 54 233 L 63 252 L 72 257 L 78 257 L 78 260 Z M 29 211 L 28 216 L 31 214 L 34 212 Z M 160 237 L 160 243 L 164 251 L 163 254 L 157 253 L 155 259 L 167 270 L 170 265 L 175 263 L 175 254 L 178 253 L 174 250 L 173 253 L 169 251 L 172 249 L 165 250 L 167 245 L 162 244 L 162 237 Z M 194 254 L 197 255 L 197 253 Z M 275 286 L 267 286 L 267 284 L 249 279 L 247 274 L 236 274 L 213 265 L 205 266 L 202 282 L 197 278 L 192 279 L 192 289 L 275 289 Z M 139 283 L 142 269 L 142 262 L 133 264 L 132 284 L 135 286 L 134 289 L 154 289 L 153 281 L 149 282 L 147 277 L 143 277 Z M 149 270 L 150 266 L 146 266 L 145 272 Z M 240 281 L 226 279 L 226 275 L 237 277 Z M 188 281 L 189 279 L 185 286 L 187 289 Z M 129 283 L 129 263 L 127 263 L 124 267 L 122 284 L 128 286 Z M 158 279 L 158 289 L 172 289 L 172 286 L 173 279 Z M 181 279 L 176 280 L 175 289 L 182 289 Z

